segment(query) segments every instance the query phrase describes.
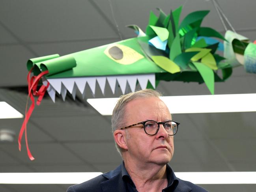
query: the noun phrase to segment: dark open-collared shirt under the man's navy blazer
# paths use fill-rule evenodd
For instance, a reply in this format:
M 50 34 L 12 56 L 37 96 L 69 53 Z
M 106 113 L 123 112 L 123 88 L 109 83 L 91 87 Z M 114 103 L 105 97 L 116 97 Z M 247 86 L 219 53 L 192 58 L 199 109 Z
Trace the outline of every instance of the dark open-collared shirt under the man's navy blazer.
M 138 192 L 136 190 L 135 184 L 133 183 L 133 180 L 131 179 L 130 175 L 128 174 L 128 172 L 124 166 L 124 162 L 122 163 L 122 166 L 121 166 L 121 172 L 122 172 L 122 179 L 123 179 L 124 185 L 126 186 L 126 191 L 127 192 Z M 162 190 L 162 192 L 172 192 L 178 186 L 179 181 L 176 178 L 176 176 L 174 175 L 172 168 L 168 164 L 166 165 L 166 176 L 167 176 L 167 180 L 168 180 L 168 185 L 166 188 L 164 188 Z

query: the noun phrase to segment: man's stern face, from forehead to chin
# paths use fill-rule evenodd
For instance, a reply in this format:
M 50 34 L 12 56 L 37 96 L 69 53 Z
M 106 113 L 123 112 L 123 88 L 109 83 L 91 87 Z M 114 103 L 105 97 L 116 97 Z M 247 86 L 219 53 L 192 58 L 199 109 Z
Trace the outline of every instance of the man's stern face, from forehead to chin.
M 126 126 L 154 120 L 165 122 L 172 120 L 166 105 L 157 97 L 135 99 L 125 108 Z M 168 136 L 163 125 L 153 136 L 145 133 L 143 125 L 136 125 L 126 130 L 127 153 L 130 160 L 141 163 L 167 164 L 174 153 L 173 136 Z

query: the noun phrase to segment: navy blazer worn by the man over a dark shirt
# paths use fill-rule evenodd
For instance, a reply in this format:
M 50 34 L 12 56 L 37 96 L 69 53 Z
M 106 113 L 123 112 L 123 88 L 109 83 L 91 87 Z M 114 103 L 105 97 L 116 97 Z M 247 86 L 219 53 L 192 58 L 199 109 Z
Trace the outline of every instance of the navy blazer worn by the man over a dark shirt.
M 167 164 L 167 166 L 169 165 Z M 207 192 L 198 185 L 183 181 L 175 175 L 174 177 L 179 181 L 174 192 Z M 126 192 L 125 184 L 122 180 L 121 165 L 115 170 L 103 173 L 89 181 L 70 186 L 67 192 Z

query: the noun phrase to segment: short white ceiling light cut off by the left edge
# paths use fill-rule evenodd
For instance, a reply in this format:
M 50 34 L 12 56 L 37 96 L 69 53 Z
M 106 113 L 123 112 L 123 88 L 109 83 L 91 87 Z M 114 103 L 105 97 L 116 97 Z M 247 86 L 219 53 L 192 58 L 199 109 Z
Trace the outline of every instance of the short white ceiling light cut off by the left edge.
M 22 118 L 23 115 L 4 101 L 0 101 L 0 119 Z

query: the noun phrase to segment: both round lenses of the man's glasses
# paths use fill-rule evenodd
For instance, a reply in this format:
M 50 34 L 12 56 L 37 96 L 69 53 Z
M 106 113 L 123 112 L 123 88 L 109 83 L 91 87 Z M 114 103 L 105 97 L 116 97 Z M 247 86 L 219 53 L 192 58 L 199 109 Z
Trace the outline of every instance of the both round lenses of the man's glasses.
M 146 121 L 145 122 L 145 131 L 149 135 L 154 135 L 158 130 L 158 123 L 155 121 Z M 164 123 L 164 129 L 168 133 L 168 135 L 174 135 L 177 132 L 178 125 L 173 121 L 166 121 Z

